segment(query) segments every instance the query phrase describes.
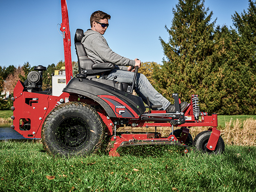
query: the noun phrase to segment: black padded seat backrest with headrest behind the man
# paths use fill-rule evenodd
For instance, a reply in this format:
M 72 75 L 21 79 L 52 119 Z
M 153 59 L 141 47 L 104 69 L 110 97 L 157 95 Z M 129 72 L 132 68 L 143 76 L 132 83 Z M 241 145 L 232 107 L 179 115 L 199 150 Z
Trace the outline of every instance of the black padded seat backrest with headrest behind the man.
M 83 29 L 76 29 L 75 35 L 75 48 L 76 55 L 78 59 L 78 67 L 79 73 L 83 74 L 84 70 L 92 70 L 92 66 L 94 64 L 93 60 L 87 57 L 83 44 L 81 44 L 81 40 L 84 37 Z

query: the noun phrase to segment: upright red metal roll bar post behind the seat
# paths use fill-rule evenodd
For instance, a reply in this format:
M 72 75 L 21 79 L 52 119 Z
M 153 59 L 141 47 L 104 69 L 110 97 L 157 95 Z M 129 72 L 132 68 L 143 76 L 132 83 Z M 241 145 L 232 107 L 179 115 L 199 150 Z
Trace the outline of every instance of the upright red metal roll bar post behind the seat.
M 66 0 L 61 0 L 61 15 L 62 15 L 62 23 L 61 23 L 60 30 L 63 32 L 66 83 L 68 83 L 68 81 L 70 81 L 70 79 L 73 77 L 73 71 L 72 71 L 72 59 L 71 59 L 70 29 L 69 29 Z

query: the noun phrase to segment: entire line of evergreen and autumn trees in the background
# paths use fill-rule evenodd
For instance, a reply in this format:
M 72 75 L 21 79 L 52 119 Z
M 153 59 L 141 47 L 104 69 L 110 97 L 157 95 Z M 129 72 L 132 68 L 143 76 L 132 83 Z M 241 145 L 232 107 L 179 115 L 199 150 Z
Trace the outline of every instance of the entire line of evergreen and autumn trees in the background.
M 255 114 L 256 3 L 248 0 L 247 10 L 232 15 L 233 27 L 216 26 L 204 0 L 179 0 L 172 12 L 172 26 L 166 26 L 169 41 L 160 37 L 163 64 L 142 63 L 140 73 L 172 102 L 172 93 L 179 93 L 187 102 L 198 94 L 201 111 Z M 51 87 L 51 74 L 62 66 L 60 61 L 47 67 L 43 89 Z M 29 63 L 17 69 L 0 67 L 0 91 L 6 84 L 13 88 L 17 79 L 25 81 L 32 69 Z M 76 73 L 78 63 L 73 61 L 73 75 Z

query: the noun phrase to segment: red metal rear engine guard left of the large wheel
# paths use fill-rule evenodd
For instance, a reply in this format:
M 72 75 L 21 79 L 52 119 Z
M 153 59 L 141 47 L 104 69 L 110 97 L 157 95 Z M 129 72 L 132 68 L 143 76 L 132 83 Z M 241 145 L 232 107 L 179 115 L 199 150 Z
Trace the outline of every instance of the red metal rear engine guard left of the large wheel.
M 21 81 L 18 81 L 14 88 L 11 127 L 25 138 L 41 138 L 41 128 L 47 114 L 59 105 L 57 102 L 61 99 L 67 101 L 70 95 L 69 93 L 62 93 L 60 96 L 44 95 L 24 91 L 24 88 Z M 30 102 L 33 99 L 35 102 Z M 20 119 L 30 119 L 30 130 L 21 130 L 24 122 Z

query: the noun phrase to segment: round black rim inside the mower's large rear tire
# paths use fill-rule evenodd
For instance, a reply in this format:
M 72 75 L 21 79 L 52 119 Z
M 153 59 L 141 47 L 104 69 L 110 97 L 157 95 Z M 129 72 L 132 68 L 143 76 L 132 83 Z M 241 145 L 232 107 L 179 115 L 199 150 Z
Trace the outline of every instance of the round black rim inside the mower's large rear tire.
M 56 139 L 61 147 L 68 150 L 78 150 L 90 140 L 87 122 L 79 117 L 67 117 L 61 120 L 56 128 Z

